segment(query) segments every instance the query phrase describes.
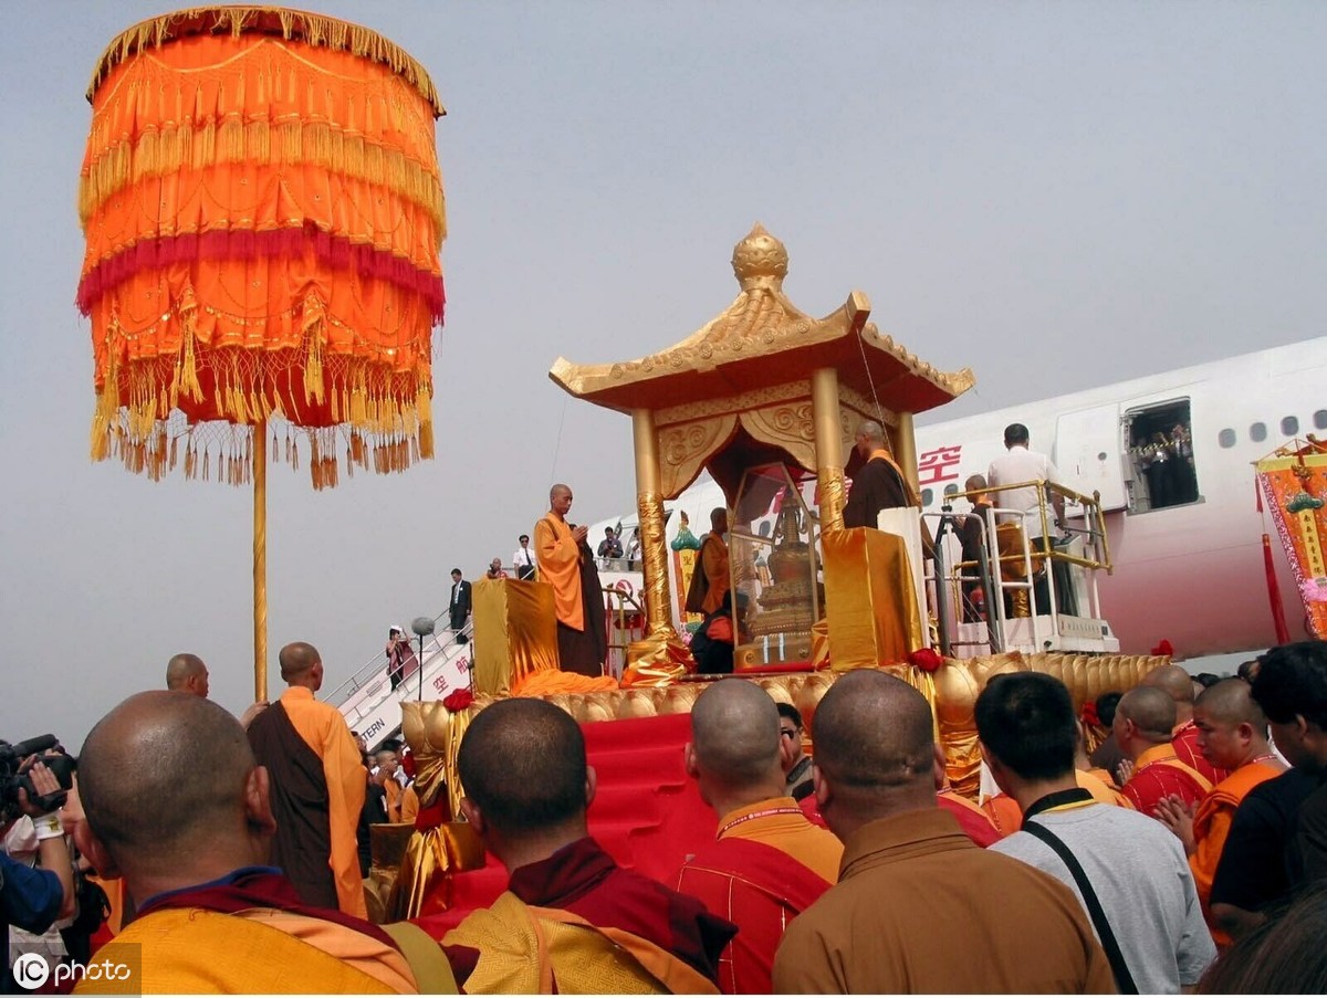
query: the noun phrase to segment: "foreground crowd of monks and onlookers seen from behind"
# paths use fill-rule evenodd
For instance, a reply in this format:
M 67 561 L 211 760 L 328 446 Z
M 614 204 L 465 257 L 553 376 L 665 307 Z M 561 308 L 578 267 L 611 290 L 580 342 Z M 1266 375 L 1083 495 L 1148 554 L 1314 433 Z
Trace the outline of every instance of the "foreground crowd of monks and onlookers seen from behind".
M 288 645 L 280 664 L 287 690 L 247 729 L 195 669 L 194 687 L 130 697 L 89 734 L 64 821 L 131 901 L 96 958 L 133 975 L 80 989 L 1327 987 L 1327 642 L 1271 649 L 1201 691 L 1157 669 L 1100 718 L 1111 738 L 1096 755 L 1119 755 L 1105 766 L 1063 683 L 997 676 L 977 701 L 1001 791 L 983 807 L 949 788 L 928 702 L 885 673 L 828 690 L 809 766 L 795 711 L 715 681 L 685 748 L 715 832 L 666 883 L 589 836 L 597 776 L 571 715 L 499 701 L 470 723 L 456 767 L 459 818 L 508 884 L 441 940 L 365 918 L 360 750 L 316 697 L 317 650 Z

